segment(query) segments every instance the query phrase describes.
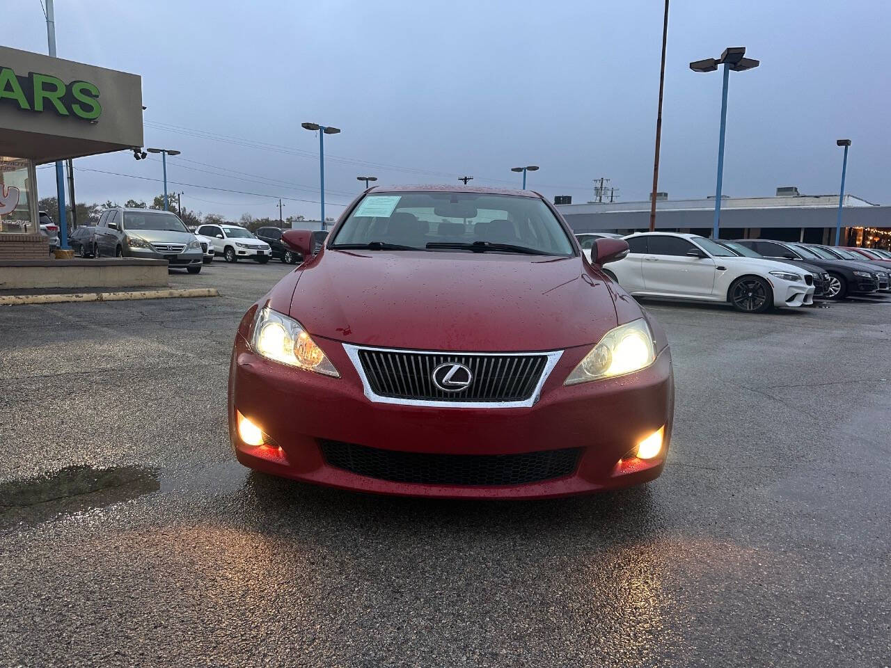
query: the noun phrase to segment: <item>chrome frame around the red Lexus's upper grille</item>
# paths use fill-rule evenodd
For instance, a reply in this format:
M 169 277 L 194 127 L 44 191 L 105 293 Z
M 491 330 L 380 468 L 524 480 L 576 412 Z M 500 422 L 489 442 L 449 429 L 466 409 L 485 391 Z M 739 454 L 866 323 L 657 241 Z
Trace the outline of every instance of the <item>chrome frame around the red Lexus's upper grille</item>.
M 344 350 L 349 357 L 350 362 L 353 363 L 353 366 L 356 368 L 356 373 L 359 374 L 359 378 L 362 379 L 362 387 L 364 390 L 364 394 L 368 397 L 369 401 L 374 403 L 396 403 L 402 405 L 413 405 L 413 406 L 430 406 L 433 408 L 528 408 L 530 406 L 534 406 L 535 403 L 538 402 L 538 399 L 541 397 L 542 387 L 544 387 L 544 382 L 551 375 L 551 371 L 553 371 L 554 366 L 557 365 L 560 360 L 560 355 L 563 354 L 562 350 L 553 350 L 546 352 L 535 352 L 535 353 L 468 353 L 468 352 L 458 352 L 458 351 L 436 351 L 436 350 L 409 350 L 405 348 L 377 348 L 372 346 L 352 346 L 350 344 L 343 344 Z M 433 359 L 436 358 L 446 358 L 448 361 L 452 361 L 454 359 L 460 358 L 489 358 L 495 360 L 496 358 L 511 358 L 512 360 L 522 361 L 527 365 L 530 362 L 527 361 L 527 358 L 543 358 L 544 365 L 541 367 L 541 371 L 538 374 L 537 382 L 532 386 L 531 392 L 523 397 L 523 398 L 513 398 L 511 400 L 503 401 L 499 399 L 489 399 L 486 401 L 478 401 L 478 400 L 470 400 L 470 401 L 462 401 L 460 398 L 458 399 L 441 399 L 441 398 L 428 398 L 421 396 L 420 392 L 417 393 L 416 396 L 386 396 L 378 394 L 374 388 L 372 387 L 372 379 L 369 378 L 368 374 L 365 372 L 364 365 L 362 359 L 360 357 L 360 352 L 367 351 L 372 354 L 402 354 L 402 355 L 416 355 L 421 358 L 430 358 L 432 363 Z M 431 364 L 431 369 L 433 365 Z M 396 393 L 390 393 L 396 394 Z

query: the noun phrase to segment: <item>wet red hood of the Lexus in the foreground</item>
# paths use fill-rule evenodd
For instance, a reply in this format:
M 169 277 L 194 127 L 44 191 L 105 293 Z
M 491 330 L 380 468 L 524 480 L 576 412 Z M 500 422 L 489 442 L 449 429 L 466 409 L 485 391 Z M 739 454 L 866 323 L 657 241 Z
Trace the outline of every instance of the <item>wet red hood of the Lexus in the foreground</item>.
M 581 257 L 325 249 L 297 273 L 290 316 L 352 344 L 557 350 L 617 325 L 612 292 Z

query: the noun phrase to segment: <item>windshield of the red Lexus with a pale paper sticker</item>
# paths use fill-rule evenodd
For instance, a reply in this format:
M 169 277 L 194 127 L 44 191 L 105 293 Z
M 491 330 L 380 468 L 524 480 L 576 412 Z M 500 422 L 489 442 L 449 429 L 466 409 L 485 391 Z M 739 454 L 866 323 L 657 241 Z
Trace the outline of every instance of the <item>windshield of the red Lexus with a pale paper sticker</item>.
M 368 195 L 340 227 L 329 248 L 368 244 L 372 250 L 575 255 L 567 233 L 544 201 L 475 192 Z

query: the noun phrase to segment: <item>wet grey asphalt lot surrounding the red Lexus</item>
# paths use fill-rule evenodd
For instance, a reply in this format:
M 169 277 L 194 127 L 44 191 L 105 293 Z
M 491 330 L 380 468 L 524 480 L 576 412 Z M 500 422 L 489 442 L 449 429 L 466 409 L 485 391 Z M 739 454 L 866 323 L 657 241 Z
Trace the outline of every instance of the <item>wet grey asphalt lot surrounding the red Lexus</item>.
M 0 307 L 0 665 L 887 666 L 891 297 L 649 304 L 665 473 L 558 501 L 393 499 L 233 460 L 221 297 Z

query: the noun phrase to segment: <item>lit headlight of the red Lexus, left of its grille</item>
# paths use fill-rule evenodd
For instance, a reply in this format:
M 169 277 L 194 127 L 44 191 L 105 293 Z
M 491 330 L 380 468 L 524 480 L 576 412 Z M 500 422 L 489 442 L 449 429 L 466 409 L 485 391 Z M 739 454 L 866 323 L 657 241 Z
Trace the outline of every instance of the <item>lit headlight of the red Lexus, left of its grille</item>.
M 271 308 L 263 308 L 257 313 L 251 346 L 267 360 L 340 378 L 337 369 L 303 326 Z

